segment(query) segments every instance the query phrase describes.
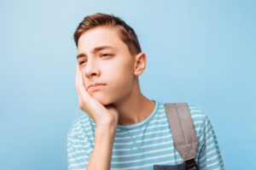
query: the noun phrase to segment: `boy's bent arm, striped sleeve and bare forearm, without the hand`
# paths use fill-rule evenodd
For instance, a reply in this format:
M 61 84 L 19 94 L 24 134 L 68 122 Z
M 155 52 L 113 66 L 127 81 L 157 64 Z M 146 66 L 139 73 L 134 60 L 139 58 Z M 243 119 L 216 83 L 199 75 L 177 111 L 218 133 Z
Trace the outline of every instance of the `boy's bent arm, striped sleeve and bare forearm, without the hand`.
M 86 127 L 86 130 L 83 130 L 83 127 Z M 67 135 L 69 170 L 110 168 L 116 126 L 98 124 L 95 133 L 93 129 L 94 126 L 89 118 L 80 118 L 69 131 Z M 93 138 L 94 134 L 95 138 Z

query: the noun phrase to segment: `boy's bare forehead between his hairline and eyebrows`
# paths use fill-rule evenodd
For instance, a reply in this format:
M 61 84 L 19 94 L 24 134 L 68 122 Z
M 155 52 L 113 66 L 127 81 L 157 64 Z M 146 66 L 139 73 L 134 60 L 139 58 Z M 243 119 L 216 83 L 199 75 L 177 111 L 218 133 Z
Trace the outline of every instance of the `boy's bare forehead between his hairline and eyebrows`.
M 125 43 L 119 37 L 117 29 L 109 26 L 99 26 L 90 29 L 79 37 L 79 52 L 90 52 L 92 49 L 102 46 L 117 49 L 126 48 Z

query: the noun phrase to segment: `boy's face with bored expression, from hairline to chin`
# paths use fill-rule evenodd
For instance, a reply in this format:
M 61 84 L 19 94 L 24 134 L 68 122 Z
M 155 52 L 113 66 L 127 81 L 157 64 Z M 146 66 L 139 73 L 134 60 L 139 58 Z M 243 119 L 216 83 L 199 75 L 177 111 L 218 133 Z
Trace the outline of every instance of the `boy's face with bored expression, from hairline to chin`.
M 79 37 L 78 63 L 89 94 L 102 105 L 124 99 L 135 79 L 135 57 L 112 27 L 100 26 Z M 104 83 L 88 88 L 90 83 Z

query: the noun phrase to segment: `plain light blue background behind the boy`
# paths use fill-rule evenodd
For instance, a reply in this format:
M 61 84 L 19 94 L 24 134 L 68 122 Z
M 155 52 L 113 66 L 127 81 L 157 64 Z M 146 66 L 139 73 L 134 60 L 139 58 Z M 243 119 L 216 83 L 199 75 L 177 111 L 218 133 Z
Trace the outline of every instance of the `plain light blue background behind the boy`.
M 67 169 L 67 131 L 84 113 L 73 31 L 115 14 L 148 56 L 143 94 L 207 112 L 226 169 L 255 168 L 255 1 L 0 1 L 0 169 Z

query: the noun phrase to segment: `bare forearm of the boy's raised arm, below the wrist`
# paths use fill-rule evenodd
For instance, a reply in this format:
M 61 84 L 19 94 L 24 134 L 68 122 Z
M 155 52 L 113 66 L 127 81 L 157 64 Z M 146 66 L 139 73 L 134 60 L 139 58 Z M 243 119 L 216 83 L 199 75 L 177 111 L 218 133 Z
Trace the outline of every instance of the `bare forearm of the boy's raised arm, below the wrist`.
M 113 126 L 96 126 L 95 145 L 87 170 L 110 169 L 115 131 Z

